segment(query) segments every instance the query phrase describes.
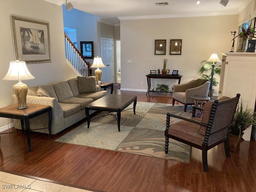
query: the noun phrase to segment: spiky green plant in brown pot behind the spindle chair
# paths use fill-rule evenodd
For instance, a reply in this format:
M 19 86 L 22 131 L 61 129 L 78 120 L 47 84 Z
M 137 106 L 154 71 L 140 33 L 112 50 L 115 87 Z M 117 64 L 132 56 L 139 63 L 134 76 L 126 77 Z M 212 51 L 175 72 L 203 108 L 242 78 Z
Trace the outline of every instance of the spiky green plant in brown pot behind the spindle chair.
M 244 130 L 250 126 L 256 126 L 256 112 L 252 109 L 244 108 L 242 101 L 238 103 L 234 115 L 234 121 L 230 127 L 230 151 L 238 151 Z

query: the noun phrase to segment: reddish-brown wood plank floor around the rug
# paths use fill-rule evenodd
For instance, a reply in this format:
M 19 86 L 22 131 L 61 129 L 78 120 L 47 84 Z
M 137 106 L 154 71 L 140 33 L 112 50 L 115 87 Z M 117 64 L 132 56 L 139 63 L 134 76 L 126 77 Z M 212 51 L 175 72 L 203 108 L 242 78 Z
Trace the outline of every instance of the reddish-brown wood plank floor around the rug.
M 128 92 L 141 102 L 172 103 L 171 94 Z M 85 122 L 78 123 L 81 124 Z M 72 126 L 72 128 L 78 126 Z M 54 139 L 62 136 L 68 128 Z M 32 152 L 21 133 L 1 135 L 0 170 L 54 180 L 66 185 L 107 192 L 254 192 L 256 142 L 242 141 L 238 153 L 225 157 L 221 144 L 208 152 L 210 171 L 203 171 L 202 154 L 192 148 L 190 163 L 174 162 L 50 140 L 32 133 Z M 1 190 L 0 190 L 1 191 Z

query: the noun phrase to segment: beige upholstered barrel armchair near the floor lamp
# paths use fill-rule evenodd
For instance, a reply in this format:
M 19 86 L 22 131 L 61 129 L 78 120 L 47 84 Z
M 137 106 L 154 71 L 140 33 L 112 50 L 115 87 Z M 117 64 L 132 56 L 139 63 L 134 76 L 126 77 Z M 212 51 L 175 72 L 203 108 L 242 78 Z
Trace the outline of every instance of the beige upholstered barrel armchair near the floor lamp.
M 193 95 L 208 96 L 210 82 L 206 79 L 195 79 L 183 84 L 176 84 L 173 88 L 173 100 L 184 104 L 184 112 L 187 110 L 188 105 L 193 105 L 194 100 L 191 98 Z

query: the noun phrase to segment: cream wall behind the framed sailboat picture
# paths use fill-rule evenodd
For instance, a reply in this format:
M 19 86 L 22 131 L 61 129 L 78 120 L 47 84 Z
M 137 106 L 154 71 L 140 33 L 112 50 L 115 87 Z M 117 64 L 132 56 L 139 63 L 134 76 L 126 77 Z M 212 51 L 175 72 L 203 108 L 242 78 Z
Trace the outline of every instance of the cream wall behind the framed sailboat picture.
M 12 41 L 11 15 L 49 22 L 50 53 L 52 62 L 27 64 L 34 80 L 24 81 L 28 86 L 47 85 L 68 80 L 76 75 L 66 65 L 62 7 L 42 0 L 1 1 L 0 23 L 0 107 L 11 104 L 12 86 L 15 81 L 5 81 L 10 61 L 15 60 Z M 0 128 L 8 124 L 7 118 L 0 118 Z

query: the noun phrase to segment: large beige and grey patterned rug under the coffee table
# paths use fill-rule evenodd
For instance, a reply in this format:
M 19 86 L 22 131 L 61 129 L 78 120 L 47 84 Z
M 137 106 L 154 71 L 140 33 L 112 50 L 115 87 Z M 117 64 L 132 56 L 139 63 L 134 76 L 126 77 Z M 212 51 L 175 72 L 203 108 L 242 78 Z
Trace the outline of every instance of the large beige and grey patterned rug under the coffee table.
M 170 139 L 169 152 L 164 152 L 166 113 L 190 118 L 184 105 L 137 102 L 136 115 L 132 105 L 121 112 L 120 132 L 116 117 L 101 112 L 91 119 L 90 128 L 85 122 L 55 141 L 189 163 L 190 146 L 186 144 Z M 187 111 L 191 109 L 188 106 Z M 178 121 L 171 118 L 172 123 Z

